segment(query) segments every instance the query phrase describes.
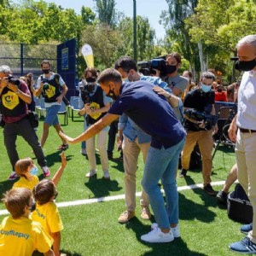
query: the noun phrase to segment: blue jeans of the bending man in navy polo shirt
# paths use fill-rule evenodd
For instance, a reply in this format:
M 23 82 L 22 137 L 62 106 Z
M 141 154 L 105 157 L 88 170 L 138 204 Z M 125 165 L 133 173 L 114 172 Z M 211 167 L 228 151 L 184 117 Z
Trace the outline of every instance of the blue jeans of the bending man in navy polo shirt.
M 176 172 L 183 145 L 184 139 L 171 148 L 150 147 L 148 150 L 142 185 L 148 194 L 155 221 L 161 229 L 167 229 L 171 224 L 178 223 Z M 165 190 L 166 205 L 158 185 L 159 180 Z

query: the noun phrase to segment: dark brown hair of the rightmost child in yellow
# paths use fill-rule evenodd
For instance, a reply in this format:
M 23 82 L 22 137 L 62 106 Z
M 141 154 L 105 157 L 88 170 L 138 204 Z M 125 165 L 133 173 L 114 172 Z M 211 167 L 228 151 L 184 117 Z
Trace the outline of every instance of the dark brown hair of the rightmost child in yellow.
M 39 205 L 44 205 L 55 195 L 55 184 L 43 179 L 33 188 L 33 195 Z

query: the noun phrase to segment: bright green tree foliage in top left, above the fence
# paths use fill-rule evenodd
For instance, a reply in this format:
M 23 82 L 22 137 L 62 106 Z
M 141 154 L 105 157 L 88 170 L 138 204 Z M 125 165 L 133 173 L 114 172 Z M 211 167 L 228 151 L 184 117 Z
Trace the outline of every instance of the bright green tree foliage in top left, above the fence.
M 27 44 L 75 38 L 83 25 L 81 16 L 76 15 L 73 9 L 62 9 L 55 3 L 42 0 L 23 0 L 3 11 L 6 20 L 3 33 L 12 41 Z

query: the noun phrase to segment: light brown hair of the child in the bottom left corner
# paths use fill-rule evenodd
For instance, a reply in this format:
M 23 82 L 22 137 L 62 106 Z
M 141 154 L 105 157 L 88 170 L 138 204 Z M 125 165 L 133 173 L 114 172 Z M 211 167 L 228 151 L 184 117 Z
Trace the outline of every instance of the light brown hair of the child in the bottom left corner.
M 3 194 L 3 203 L 13 218 L 20 218 L 25 212 L 24 208 L 30 206 L 32 191 L 25 188 L 16 188 Z

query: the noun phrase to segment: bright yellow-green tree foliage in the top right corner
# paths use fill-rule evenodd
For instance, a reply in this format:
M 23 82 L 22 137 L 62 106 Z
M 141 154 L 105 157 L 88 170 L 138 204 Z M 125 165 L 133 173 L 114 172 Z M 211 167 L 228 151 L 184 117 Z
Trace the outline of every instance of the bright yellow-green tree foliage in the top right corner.
M 236 52 L 236 44 L 256 31 L 255 0 L 199 0 L 187 24 L 194 42 L 218 46 L 226 52 Z

